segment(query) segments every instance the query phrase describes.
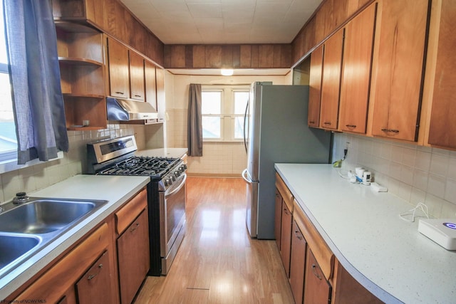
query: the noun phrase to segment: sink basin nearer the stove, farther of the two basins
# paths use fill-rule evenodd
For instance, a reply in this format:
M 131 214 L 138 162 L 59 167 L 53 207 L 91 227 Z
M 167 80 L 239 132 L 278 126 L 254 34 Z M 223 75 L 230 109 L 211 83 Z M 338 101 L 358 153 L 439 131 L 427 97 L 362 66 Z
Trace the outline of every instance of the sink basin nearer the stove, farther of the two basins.
M 37 199 L 0 214 L 0 231 L 47 234 L 95 208 L 91 201 Z

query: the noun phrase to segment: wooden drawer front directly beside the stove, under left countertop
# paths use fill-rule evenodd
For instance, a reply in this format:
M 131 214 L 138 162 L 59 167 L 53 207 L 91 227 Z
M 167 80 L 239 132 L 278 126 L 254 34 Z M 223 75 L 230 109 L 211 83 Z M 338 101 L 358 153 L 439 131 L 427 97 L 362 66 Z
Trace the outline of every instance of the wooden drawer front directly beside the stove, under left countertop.
M 115 230 L 122 234 L 147 206 L 147 190 L 142 189 L 133 199 L 115 212 Z

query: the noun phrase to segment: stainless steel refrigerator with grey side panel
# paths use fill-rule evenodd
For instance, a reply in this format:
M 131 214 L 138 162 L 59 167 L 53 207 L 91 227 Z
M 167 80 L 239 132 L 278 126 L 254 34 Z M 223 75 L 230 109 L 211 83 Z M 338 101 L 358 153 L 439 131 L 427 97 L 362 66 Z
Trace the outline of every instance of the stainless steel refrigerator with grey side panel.
M 274 239 L 274 163 L 330 162 L 331 132 L 307 126 L 308 85 L 252 83 L 244 117 L 247 229 L 252 238 Z

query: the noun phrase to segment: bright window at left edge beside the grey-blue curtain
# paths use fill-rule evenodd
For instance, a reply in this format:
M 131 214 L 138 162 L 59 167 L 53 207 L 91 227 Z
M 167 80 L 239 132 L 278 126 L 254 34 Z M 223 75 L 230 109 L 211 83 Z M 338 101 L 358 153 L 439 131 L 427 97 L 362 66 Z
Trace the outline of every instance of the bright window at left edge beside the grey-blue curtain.
M 4 30 L 3 1 L 0 1 L 0 162 L 17 156 L 11 85 Z

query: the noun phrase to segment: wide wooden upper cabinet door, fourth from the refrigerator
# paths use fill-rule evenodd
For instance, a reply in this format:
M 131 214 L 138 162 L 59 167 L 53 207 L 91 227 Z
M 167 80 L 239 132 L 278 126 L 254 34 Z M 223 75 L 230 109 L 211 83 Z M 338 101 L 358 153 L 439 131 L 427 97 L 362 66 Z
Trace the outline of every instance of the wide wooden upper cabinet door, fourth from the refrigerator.
M 378 1 L 372 134 L 416 141 L 429 0 Z

